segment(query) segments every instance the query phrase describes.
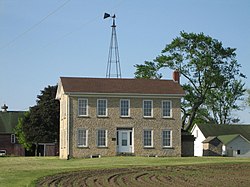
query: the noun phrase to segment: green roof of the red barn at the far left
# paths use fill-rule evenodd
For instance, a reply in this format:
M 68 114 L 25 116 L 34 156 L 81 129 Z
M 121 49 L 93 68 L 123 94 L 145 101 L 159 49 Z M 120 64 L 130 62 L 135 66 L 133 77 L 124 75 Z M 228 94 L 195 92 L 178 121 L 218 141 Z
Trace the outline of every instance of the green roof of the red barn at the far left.
M 23 111 L 0 112 L 0 133 L 14 133 L 18 118 L 24 116 Z

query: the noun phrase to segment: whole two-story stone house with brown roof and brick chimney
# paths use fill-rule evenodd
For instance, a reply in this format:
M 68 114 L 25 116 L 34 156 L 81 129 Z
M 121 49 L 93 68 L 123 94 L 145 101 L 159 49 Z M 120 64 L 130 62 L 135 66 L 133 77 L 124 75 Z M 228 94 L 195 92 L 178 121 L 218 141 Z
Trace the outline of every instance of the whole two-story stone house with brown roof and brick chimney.
M 60 158 L 180 156 L 178 80 L 61 77 Z

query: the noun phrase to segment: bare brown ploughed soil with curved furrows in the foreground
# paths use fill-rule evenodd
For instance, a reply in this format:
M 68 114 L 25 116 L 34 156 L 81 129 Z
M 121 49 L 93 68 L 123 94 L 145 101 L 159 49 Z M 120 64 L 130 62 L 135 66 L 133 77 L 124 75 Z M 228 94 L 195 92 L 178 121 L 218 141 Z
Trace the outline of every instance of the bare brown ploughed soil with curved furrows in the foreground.
M 37 186 L 250 186 L 250 165 L 84 170 L 45 177 Z

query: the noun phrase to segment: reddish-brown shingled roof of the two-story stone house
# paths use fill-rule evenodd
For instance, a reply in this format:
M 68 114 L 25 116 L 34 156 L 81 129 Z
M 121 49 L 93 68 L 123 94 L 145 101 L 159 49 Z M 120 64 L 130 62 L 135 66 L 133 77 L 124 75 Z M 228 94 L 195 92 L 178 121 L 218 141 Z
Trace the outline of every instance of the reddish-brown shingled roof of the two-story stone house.
M 64 92 L 184 95 L 173 80 L 61 77 Z

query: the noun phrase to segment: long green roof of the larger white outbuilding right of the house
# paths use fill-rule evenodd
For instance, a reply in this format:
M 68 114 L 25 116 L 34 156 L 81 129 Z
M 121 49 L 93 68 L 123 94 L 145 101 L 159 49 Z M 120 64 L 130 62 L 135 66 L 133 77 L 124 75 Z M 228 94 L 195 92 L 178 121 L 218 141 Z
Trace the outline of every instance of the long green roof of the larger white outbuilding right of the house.
M 196 125 L 199 127 L 205 138 L 209 136 L 240 134 L 241 136 L 245 137 L 248 141 L 250 141 L 250 125 L 214 125 L 214 124 L 196 124 Z

